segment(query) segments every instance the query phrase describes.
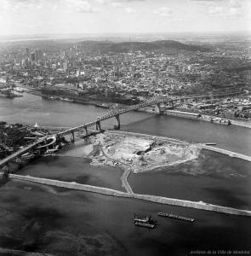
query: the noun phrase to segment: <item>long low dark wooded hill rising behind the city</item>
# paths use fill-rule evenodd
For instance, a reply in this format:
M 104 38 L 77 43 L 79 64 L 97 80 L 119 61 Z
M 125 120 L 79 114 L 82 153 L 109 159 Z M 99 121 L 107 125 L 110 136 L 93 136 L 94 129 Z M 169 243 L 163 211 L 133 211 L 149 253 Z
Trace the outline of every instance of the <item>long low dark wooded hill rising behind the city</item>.
M 177 49 L 177 50 L 190 50 L 190 51 L 208 51 L 208 48 L 200 45 L 183 44 L 174 40 L 161 40 L 153 42 L 123 42 L 113 43 L 111 41 L 83 41 L 78 43 L 83 48 L 100 50 L 102 52 L 130 52 L 138 50 L 165 50 L 165 49 Z

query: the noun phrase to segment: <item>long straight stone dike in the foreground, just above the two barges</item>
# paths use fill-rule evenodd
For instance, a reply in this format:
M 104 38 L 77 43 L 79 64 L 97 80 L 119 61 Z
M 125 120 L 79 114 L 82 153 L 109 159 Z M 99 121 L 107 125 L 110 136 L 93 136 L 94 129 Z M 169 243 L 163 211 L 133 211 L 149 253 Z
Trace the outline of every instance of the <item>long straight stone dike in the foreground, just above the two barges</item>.
M 75 183 L 75 182 L 72 182 L 72 183 L 62 182 L 62 181 L 58 181 L 58 180 L 41 178 L 41 177 L 22 176 L 22 175 L 15 175 L 15 174 L 9 174 L 9 177 L 13 178 L 15 180 L 20 180 L 20 181 L 26 181 L 26 182 L 31 182 L 31 183 L 40 183 L 40 184 L 44 184 L 44 185 L 56 186 L 56 187 L 61 187 L 61 188 L 66 188 L 66 189 L 83 190 L 83 191 L 98 193 L 98 194 L 102 194 L 102 195 L 111 195 L 111 196 L 124 197 L 124 198 L 134 198 L 134 199 L 138 199 L 138 200 L 151 201 L 151 202 L 155 202 L 155 203 L 172 205 L 172 206 L 177 206 L 177 207 L 191 207 L 191 208 L 200 209 L 200 210 L 251 217 L 251 211 L 240 210 L 240 209 L 231 208 L 231 207 L 216 206 L 216 205 L 205 203 L 203 201 L 199 201 L 199 202 L 185 201 L 185 200 L 167 198 L 167 197 L 157 196 L 157 195 L 129 194 L 129 193 L 125 193 L 125 192 L 114 190 L 114 189 L 106 189 L 106 188 L 95 187 L 95 186 L 80 184 L 80 183 Z

